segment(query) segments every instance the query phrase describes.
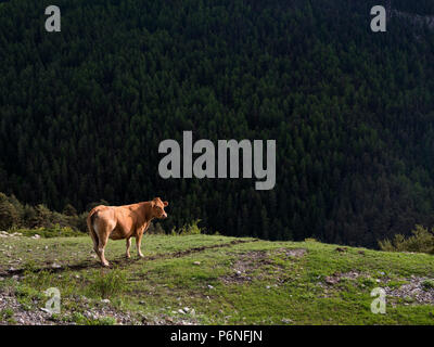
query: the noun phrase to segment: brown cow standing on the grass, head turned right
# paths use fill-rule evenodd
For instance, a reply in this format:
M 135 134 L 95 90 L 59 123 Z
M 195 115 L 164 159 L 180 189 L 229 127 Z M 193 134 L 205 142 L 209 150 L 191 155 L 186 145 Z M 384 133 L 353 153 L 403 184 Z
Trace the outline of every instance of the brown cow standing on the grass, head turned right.
M 94 207 L 89 213 L 87 223 L 90 236 L 93 241 L 93 249 L 100 257 L 102 266 L 108 266 L 108 261 L 104 256 L 104 248 L 108 239 L 127 239 L 126 256 L 129 258 L 131 237 L 135 236 L 137 253 L 139 257 L 143 257 L 140 250 L 143 232 L 149 228 L 152 219 L 167 217 L 164 210 L 164 207 L 167 205 L 167 202 L 162 202 L 159 197 L 155 197 L 151 202 L 131 205 L 99 205 Z

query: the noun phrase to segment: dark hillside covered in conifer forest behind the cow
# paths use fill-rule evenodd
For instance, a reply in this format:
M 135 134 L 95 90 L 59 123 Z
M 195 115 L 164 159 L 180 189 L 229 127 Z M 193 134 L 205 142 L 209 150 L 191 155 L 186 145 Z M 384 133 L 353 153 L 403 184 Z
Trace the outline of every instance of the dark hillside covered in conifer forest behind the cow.
M 62 31 L 44 30 L 55 2 Z M 434 222 L 434 30 L 355 0 L 0 2 L 0 191 L 170 229 L 375 246 Z M 433 15 L 432 1 L 394 1 Z M 158 144 L 275 139 L 277 183 L 158 176 Z

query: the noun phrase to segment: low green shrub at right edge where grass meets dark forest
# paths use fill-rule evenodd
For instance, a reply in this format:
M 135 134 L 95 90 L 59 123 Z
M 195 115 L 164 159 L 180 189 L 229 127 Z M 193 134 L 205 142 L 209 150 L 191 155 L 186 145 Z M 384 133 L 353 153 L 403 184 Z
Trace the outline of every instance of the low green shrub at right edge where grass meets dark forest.
M 395 235 L 393 241 L 379 241 L 379 246 L 386 252 L 417 252 L 434 254 L 434 229 L 431 231 L 422 226 L 416 226 L 411 231 L 412 235 L 405 237 L 401 234 Z

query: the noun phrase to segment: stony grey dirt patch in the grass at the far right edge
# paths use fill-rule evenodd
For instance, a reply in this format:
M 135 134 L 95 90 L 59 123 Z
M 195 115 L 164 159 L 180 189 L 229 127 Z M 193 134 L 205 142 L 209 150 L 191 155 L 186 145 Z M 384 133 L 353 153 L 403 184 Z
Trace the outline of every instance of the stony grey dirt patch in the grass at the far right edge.
M 427 281 L 434 281 L 433 279 L 412 275 L 406 281 L 409 283 L 403 284 L 398 288 L 385 287 L 386 295 L 418 304 L 434 304 L 434 287 L 425 285 Z

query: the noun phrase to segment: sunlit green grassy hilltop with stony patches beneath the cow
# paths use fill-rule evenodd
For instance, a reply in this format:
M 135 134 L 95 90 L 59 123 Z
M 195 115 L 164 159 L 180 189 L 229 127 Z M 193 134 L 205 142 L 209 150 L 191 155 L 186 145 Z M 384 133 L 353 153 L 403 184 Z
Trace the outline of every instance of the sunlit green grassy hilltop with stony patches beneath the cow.
M 0 323 L 434 324 L 434 257 L 220 235 L 148 235 L 144 259 L 110 242 L 102 269 L 87 236 L 4 236 Z M 373 314 L 374 287 L 387 293 Z M 44 312 L 49 287 L 61 312 Z

